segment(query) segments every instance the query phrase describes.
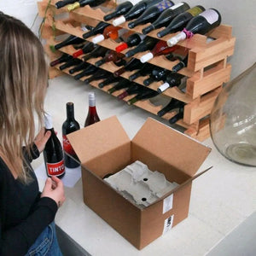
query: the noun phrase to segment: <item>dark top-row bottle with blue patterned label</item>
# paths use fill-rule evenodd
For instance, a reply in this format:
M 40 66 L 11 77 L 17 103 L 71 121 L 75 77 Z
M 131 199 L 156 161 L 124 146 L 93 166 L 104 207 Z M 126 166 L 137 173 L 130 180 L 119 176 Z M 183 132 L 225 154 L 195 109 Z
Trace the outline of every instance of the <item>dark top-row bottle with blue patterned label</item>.
M 156 3 L 150 8 L 146 9 L 142 15 L 140 15 L 137 20 L 132 20 L 128 23 L 129 28 L 134 28 L 138 25 L 143 25 L 146 23 L 151 23 L 156 20 L 159 15 L 167 8 L 170 8 L 174 3 L 170 0 L 162 0 L 160 3 Z

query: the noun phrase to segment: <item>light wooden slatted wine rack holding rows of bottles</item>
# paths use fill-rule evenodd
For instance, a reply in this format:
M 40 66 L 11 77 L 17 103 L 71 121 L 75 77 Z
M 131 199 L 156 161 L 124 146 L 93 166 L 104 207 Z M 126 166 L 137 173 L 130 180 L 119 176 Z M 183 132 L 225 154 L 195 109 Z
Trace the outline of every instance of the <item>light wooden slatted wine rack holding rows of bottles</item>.
M 67 11 L 67 7 L 61 9 L 55 9 L 55 3 L 57 0 L 43 0 L 38 2 L 38 15 L 44 18 L 44 24 L 41 29 L 41 37 L 45 38 L 45 51 L 49 55 L 51 60 L 58 58 L 63 52 L 72 55 L 76 49 L 73 46 L 67 46 L 60 49 L 60 51 L 52 52 L 50 45 L 57 44 L 55 37 L 63 33 L 73 34 L 79 38 L 83 38 L 84 31 L 81 28 L 82 24 L 89 26 L 96 26 L 96 24 L 103 20 L 103 16 L 115 8 L 112 1 L 108 1 L 102 4 L 101 7 L 91 9 L 89 6 L 75 9 L 72 12 Z M 109 22 L 111 22 L 110 20 Z M 128 22 L 123 25 L 124 28 L 128 29 Z M 142 32 L 143 27 L 148 26 L 136 26 L 132 29 L 133 32 Z M 157 38 L 156 34 L 162 30 L 154 30 L 148 33 L 148 36 Z M 91 41 L 93 37 L 87 38 L 87 41 Z M 171 38 L 170 34 L 166 35 L 161 40 L 167 40 Z M 212 38 L 208 42 L 207 38 Z M 187 77 L 186 90 L 185 92 L 179 90 L 177 87 L 169 88 L 165 90 L 161 95 L 163 97 L 176 98 L 179 101 L 185 102 L 183 119 L 177 121 L 177 125 L 184 127 L 184 133 L 190 137 L 194 137 L 199 141 L 205 140 L 210 136 L 209 131 L 209 114 L 212 110 L 213 102 L 218 96 L 219 91 L 222 89 L 224 83 L 230 80 L 231 66 L 227 62 L 227 58 L 233 55 L 235 48 L 236 38 L 232 37 L 231 26 L 220 25 L 213 29 L 207 35 L 195 34 L 194 37 L 184 40 L 178 43 L 184 52 L 189 53 L 188 67 L 183 68 L 178 73 L 183 74 Z M 112 39 L 105 39 L 100 45 L 108 48 L 115 49 L 119 44 Z M 127 49 L 128 50 L 128 49 Z M 126 50 L 126 51 L 127 51 Z M 124 51 L 125 53 L 125 51 Z M 134 55 L 133 57 L 140 58 L 145 52 Z M 88 62 L 95 64 L 101 58 L 90 59 Z M 154 57 L 148 61 L 159 67 L 164 67 L 172 70 L 178 61 L 168 61 L 165 56 L 160 55 Z M 119 69 L 112 62 L 105 63 L 101 66 L 102 69 L 106 69 L 110 72 L 114 72 Z M 125 72 L 121 76 L 125 79 L 135 73 Z M 55 78 L 61 75 L 61 72 L 57 67 L 49 68 L 49 78 Z M 67 73 L 64 71 L 64 73 Z M 68 73 L 69 74 L 69 73 Z M 75 73 L 76 74 L 76 73 Z M 74 75 L 75 75 L 74 74 Z M 87 79 L 84 77 L 81 80 Z M 143 80 L 147 77 L 139 77 L 134 80 L 137 84 L 143 84 Z M 113 85 L 107 85 L 100 89 L 98 84 L 101 81 L 93 81 L 90 84 L 95 86 L 99 90 L 108 91 Z M 154 82 L 150 84 L 148 88 L 157 90 L 162 82 Z M 114 92 L 113 96 L 118 96 L 122 90 Z M 127 102 L 133 96 L 125 97 L 124 101 Z M 149 113 L 157 114 L 161 108 L 165 106 L 155 106 L 150 100 L 136 102 L 138 108 L 143 108 Z M 162 116 L 163 119 L 171 119 L 176 114 L 175 111 L 166 113 Z

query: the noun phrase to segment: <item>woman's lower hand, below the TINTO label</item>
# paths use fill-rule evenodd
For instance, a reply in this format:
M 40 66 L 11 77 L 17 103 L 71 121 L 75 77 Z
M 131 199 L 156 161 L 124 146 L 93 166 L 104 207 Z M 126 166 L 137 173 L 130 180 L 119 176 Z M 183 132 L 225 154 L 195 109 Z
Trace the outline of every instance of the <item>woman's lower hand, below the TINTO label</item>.
M 48 177 L 41 197 L 49 197 L 53 199 L 58 207 L 61 207 L 65 201 L 64 185 L 58 177 Z

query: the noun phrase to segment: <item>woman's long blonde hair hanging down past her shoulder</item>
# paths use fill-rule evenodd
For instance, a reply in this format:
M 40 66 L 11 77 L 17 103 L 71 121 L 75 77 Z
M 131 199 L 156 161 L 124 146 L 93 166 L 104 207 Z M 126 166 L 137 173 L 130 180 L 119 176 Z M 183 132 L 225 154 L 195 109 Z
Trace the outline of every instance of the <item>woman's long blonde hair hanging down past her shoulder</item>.
M 34 113 L 39 127 L 44 114 L 48 65 L 44 48 L 20 20 L 0 12 L 0 146 L 21 181 L 29 177 L 23 167 L 22 146 L 35 137 Z

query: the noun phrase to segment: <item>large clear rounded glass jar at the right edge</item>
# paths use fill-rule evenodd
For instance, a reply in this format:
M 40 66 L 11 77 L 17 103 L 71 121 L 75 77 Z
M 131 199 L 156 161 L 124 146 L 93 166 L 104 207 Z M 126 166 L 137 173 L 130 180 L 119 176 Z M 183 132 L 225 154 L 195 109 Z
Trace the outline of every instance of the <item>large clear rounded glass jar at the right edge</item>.
M 227 159 L 256 166 L 256 63 L 221 90 L 212 108 L 210 131 Z

